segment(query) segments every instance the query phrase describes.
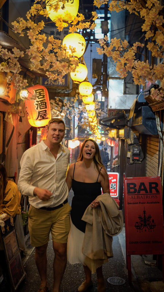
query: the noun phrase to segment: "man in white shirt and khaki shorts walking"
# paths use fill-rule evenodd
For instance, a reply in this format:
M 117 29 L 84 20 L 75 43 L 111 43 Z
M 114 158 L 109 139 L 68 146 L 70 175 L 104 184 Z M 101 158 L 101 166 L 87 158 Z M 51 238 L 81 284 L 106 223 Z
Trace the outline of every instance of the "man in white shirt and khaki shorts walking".
M 35 261 L 41 277 L 38 292 L 47 292 L 47 246 L 52 234 L 55 258 L 53 292 L 59 292 L 67 263 L 67 237 L 70 229 L 66 171 L 70 152 L 60 144 L 65 124 L 58 118 L 47 126 L 47 139 L 24 152 L 20 161 L 18 188 L 29 196 L 29 234 L 35 246 Z

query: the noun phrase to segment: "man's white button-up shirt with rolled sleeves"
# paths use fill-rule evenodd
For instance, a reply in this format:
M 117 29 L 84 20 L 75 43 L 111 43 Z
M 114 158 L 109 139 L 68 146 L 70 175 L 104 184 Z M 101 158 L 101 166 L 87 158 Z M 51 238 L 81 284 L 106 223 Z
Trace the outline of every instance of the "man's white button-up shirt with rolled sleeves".
M 69 157 L 69 149 L 60 144 L 55 159 L 43 140 L 23 153 L 18 188 L 21 194 L 29 196 L 29 203 L 32 206 L 55 207 L 67 199 L 66 171 Z M 34 196 L 35 187 L 47 189 L 53 195 L 48 201 L 40 200 Z

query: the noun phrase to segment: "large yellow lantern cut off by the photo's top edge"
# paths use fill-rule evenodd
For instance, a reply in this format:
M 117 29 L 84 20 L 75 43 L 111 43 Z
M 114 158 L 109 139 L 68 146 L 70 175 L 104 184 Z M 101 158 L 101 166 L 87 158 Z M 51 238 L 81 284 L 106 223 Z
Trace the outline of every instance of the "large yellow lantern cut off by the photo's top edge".
M 57 11 L 53 10 L 53 6 L 55 6 L 55 4 L 59 5 L 59 9 Z M 67 21 L 70 23 L 75 19 L 78 13 L 78 6 L 79 0 L 65 1 L 65 3 L 58 0 L 50 0 L 46 5 L 46 9 L 49 12 L 49 18 L 52 21 L 56 21 L 57 18 L 62 18 L 63 22 Z M 64 27 L 68 26 L 67 22 L 64 22 Z

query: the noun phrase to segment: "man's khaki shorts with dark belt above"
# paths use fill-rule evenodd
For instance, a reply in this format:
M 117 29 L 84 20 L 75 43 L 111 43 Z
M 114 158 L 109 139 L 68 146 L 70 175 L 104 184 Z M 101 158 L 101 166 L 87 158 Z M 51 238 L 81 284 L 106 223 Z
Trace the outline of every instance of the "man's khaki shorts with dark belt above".
M 47 211 L 29 207 L 28 228 L 32 246 L 42 246 L 49 241 L 50 232 L 52 240 L 59 243 L 67 243 L 70 230 L 69 213 L 71 206 L 64 206 Z

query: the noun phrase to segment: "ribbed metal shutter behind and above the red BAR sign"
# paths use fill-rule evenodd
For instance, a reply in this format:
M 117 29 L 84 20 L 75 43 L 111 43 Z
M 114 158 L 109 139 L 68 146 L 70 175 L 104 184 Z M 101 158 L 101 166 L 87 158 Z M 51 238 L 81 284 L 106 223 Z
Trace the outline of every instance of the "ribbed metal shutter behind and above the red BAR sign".
M 146 176 L 158 176 L 159 138 L 147 136 Z

